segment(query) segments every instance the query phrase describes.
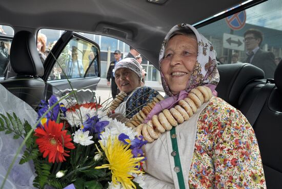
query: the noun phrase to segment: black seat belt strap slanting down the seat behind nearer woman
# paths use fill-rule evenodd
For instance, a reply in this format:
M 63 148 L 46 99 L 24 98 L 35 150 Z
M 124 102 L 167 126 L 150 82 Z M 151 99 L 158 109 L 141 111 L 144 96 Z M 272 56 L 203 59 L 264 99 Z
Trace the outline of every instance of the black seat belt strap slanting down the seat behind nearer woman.
M 266 85 L 260 89 L 246 114 L 246 117 L 252 126 L 254 125 L 259 113 L 263 109 L 272 89 L 275 87 L 273 83 L 273 79 L 267 79 Z

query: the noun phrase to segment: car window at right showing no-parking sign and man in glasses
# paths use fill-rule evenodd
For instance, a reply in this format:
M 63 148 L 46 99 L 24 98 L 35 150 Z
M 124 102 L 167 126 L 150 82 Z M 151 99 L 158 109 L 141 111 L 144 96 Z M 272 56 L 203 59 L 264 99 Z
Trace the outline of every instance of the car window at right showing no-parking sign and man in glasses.
M 214 45 L 219 64 L 248 62 L 263 69 L 265 78 L 273 78 L 282 57 L 281 12 L 282 1 L 271 0 L 200 27 L 198 31 Z

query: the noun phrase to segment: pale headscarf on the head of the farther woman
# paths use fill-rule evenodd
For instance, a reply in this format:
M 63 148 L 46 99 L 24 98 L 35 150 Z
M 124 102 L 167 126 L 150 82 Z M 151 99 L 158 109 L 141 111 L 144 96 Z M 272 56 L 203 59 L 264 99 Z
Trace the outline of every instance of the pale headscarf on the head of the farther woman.
M 117 62 L 114 67 L 115 72 L 120 68 L 128 68 L 135 72 L 140 79 L 142 79 L 142 67 L 134 58 L 125 58 Z

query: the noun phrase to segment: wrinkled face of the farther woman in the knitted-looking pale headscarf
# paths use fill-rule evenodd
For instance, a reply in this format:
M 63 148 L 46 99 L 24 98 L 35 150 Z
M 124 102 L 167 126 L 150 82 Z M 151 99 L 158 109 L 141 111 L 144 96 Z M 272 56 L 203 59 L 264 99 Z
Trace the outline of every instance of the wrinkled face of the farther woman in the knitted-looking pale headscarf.
M 115 83 L 120 91 L 128 93 L 141 86 L 140 78 L 128 68 L 120 68 L 114 75 Z

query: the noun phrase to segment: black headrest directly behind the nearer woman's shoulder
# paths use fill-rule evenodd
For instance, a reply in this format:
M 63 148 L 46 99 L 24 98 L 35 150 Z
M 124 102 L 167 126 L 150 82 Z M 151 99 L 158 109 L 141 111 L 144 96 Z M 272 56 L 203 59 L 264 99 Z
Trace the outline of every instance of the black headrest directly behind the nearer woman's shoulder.
M 248 63 L 217 66 L 220 80 L 216 87 L 218 97 L 223 98 L 235 108 L 243 89 L 255 79 L 263 79 L 264 71 Z

